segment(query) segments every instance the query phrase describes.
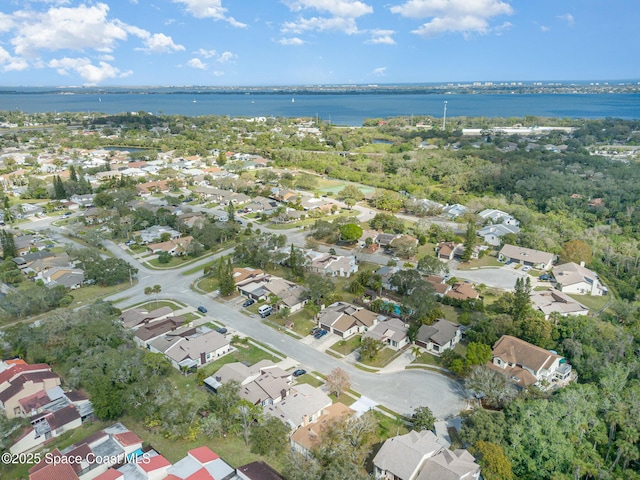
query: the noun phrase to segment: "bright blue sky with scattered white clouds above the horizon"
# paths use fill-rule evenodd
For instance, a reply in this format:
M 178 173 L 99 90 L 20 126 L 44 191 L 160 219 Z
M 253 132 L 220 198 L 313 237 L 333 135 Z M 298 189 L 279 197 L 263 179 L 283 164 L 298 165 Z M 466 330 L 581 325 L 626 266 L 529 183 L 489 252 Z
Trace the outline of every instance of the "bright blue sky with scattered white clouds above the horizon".
M 2 0 L 0 85 L 640 79 L 638 0 Z

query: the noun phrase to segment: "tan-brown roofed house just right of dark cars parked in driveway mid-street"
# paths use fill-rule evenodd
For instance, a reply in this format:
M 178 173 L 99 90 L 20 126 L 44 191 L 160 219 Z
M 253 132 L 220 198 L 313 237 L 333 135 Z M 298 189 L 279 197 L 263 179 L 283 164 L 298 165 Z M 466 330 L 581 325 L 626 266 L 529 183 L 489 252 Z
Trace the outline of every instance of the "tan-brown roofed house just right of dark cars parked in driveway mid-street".
M 366 332 L 386 319 L 387 317 L 365 308 L 346 302 L 336 302 L 318 314 L 318 326 L 342 338 L 348 338 L 356 333 Z

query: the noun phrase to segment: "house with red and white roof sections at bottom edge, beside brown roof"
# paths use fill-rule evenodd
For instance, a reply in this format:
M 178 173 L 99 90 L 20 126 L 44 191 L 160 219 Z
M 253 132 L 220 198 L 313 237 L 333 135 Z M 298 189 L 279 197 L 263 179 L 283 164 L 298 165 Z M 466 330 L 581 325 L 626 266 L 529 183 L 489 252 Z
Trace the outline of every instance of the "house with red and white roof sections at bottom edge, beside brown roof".
M 231 480 L 235 469 L 209 447 L 198 447 L 167 469 L 167 480 Z

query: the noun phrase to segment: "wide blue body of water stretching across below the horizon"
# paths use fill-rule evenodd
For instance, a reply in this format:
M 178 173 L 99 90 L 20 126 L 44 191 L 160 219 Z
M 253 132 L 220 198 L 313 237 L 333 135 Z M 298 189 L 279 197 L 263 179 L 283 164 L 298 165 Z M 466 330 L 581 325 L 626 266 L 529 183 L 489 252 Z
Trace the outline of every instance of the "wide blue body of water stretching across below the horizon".
M 341 125 L 366 118 L 429 115 L 447 118 L 524 117 L 640 119 L 640 94 L 283 94 L 283 93 L 33 93 L 3 92 L 0 110 L 231 117 L 318 117 Z

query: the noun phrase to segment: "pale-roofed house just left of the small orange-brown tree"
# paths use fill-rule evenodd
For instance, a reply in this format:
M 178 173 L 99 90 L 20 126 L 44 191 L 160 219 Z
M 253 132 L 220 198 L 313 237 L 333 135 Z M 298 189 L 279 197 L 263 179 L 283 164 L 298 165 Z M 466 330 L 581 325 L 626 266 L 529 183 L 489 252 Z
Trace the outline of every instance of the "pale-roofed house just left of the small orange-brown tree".
M 279 418 L 295 432 L 315 422 L 333 402 L 319 388 L 301 383 L 280 403 L 264 407 L 265 415 Z

